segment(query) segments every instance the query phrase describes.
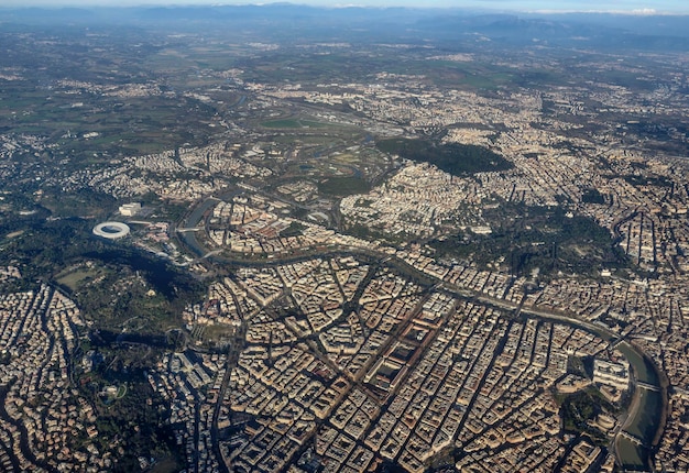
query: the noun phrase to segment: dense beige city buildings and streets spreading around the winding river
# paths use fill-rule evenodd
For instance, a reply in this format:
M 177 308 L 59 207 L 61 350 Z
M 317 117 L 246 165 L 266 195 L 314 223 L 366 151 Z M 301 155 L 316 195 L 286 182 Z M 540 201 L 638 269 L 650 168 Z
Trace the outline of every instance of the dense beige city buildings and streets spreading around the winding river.
M 12 74 L 0 80 L 22 80 Z M 77 172 L 24 172 L 64 193 L 88 188 L 117 198 L 123 207 L 110 220 L 131 232 L 116 244 L 208 283 L 206 297 L 183 312 L 194 341 L 146 372 L 152 395 L 166 404 L 186 471 L 367 472 L 392 462 L 423 472 L 448 458 L 459 471 L 614 471 L 633 463 L 630 451 L 652 451 L 655 471 L 689 469 L 689 166 L 686 157 L 624 140 L 630 123 L 604 131 L 606 116 L 686 113 L 686 74 L 645 95 L 592 82 L 490 96 L 392 73 L 327 85 L 260 84 L 239 69 L 198 74 L 230 78 L 245 97 L 243 117 L 214 123 L 223 129 L 221 140 Z M 75 102 L 94 92 L 169 94 L 155 84 L 103 90 L 72 80 L 52 90 Z M 544 102 L 553 110 L 547 116 Z M 272 186 L 280 164 L 338 163 L 344 155 L 359 162 L 374 146 L 347 143 L 314 158 L 306 144 L 275 139 L 291 130 L 249 125 L 247 117 L 272 110 L 307 111 L 324 127 L 376 136 L 447 129 L 445 143 L 486 146 L 513 167 L 450 175 L 384 155 L 380 168 L 369 169 L 370 190 L 341 199 L 319 193 L 322 178 L 310 174 L 320 172 L 313 166 Z M 579 133 L 572 117 L 600 122 L 600 134 Z M 0 176 L 10 175 L 13 153 L 47 146 L 39 135 L 0 139 Z M 336 164 L 332 173 L 350 170 Z M 586 199 L 590 189 L 602 199 Z M 187 213 L 181 221 L 156 219 L 139 205 L 150 193 L 183 204 Z M 539 278 L 516 274 L 508 255 L 486 266 L 440 257 L 426 244 L 458 230 L 490 238 L 495 229 L 486 210 L 506 204 L 564 206 L 567 218 L 592 219 L 611 242 L 616 238 L 633 270 L 562 268 Z M 368 235 L 348 231 L 353 227 Z M 222 265 L 236 270 L 216 277 Z M 4 267 L 0 278 L 19 279 L 22 272 Z M 1 470 L 107 471 L 117 462 L 121 447 L 99 442 L 96 410 L 75 387 L 96 359 L 75 356 L 89 324 L 68 295 L 47 284 L 0 295 Z M 223 349 L 204 348 L 218 327 Z M 657 372 L 641 373 L 630 356 L 647 358 Z M 592 360 L 592 376 L 572 373 L 572 358 Z M 626 414 L 588 420 L 606 448 L 564 426 L 558 398 L 590 386 L 602 402 L 628 403 Z M 125 395 L 120 385 L 101 393 L 114 402 Z M 634 411 L 654 395 L 665 404 L 657 406 L 658 435 L 639 427 Z M 153 461 L 141 458 L 142 469 Z

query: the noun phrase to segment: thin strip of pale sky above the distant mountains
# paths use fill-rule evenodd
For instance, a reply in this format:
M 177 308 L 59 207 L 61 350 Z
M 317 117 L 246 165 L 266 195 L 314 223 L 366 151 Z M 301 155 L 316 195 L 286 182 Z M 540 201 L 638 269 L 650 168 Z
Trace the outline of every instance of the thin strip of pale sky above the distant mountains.
M 283 0 L 284 1 L 284 0 Z M 139 4 L 248 4 L 274 0 L 0 0 L 13 6 L 139 6 Z M 687 0 L 293 0 L 319 7 L 439 7 L 516 11 L 615 11 L 634 13 L 689 13 Z

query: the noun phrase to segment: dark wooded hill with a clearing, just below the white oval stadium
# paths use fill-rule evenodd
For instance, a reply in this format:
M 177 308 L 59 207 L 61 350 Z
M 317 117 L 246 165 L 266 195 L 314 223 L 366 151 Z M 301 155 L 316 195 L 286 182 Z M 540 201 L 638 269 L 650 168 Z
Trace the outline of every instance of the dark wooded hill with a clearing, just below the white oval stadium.
M 94 237 L 95 221 L 23 224 L 25 231 L 0 252 L 0 265 L 20 265 L 24 280 L 55 282 L 74 290 L 72 297 L 95 329 L 120 330 L 133 320 L 142 333 L 163 333 L 179 323 L 183 307 L 199 290 L 189 274 L 164 261 Z

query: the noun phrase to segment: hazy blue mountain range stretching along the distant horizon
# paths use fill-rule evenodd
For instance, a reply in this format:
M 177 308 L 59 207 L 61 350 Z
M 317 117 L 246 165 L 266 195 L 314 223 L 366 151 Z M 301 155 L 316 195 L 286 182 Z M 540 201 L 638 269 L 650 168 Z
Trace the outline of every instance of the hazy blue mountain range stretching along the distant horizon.
M 339 8 L 272 3 L 225 7 L 15 8 L 0 9 L 0 28 L 12 23 L 165 25 L 241 25 L 266 32 L 346 40 L 458 40 L 468 34 L 514 45 L 536 43 L 600 50 L 689 51 L 689 16 L 608 13 L 495 14 L 460 9 Z

